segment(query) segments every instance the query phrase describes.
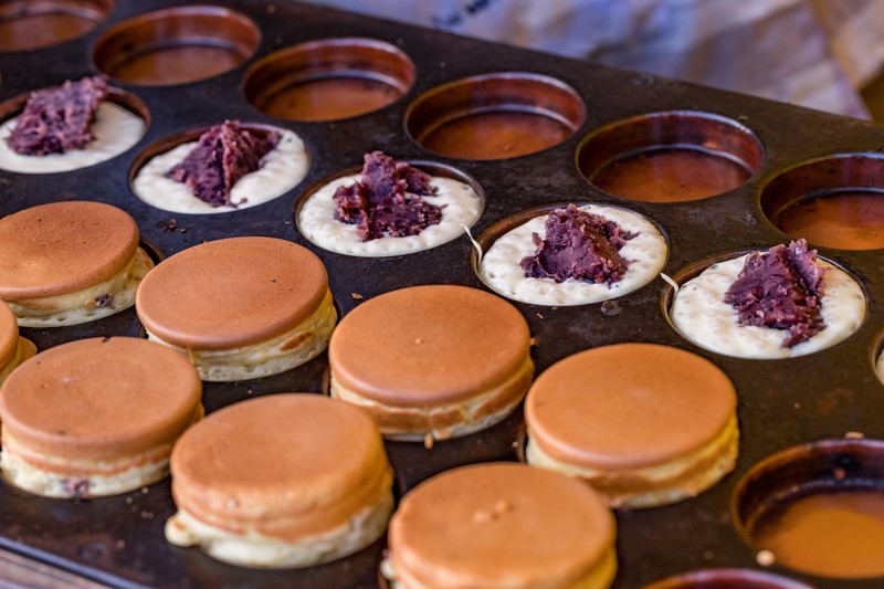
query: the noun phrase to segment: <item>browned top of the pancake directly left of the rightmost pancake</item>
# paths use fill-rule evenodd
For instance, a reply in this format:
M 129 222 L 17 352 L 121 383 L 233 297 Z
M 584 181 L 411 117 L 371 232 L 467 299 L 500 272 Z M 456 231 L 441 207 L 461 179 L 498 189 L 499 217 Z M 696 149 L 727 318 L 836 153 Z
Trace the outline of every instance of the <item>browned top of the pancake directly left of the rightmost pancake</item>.
M 502 385 L 530 348 L 522 314 L 465 286 L 414 286 L 362 303 L 328 348 L 346 389 L 385 404 L 427 407 Z

